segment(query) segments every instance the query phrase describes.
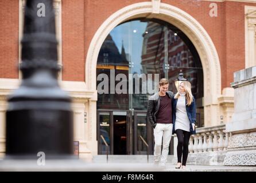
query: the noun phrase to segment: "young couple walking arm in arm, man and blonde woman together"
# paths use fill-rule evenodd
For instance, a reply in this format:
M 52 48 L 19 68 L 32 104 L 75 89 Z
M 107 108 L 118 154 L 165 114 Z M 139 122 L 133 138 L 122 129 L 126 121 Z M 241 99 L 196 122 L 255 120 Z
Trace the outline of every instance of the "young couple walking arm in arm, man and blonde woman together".
M 165 166 L 170 139 L 176 133 L 178 162 L 175 168 L 185 169 L 189 138 L 196 133 L 196 102 L 188 81 L 180 82 L 179 92 L 174 95 L 168 87 L 168 79 L 162 78 L 159 92 L 150 97 L 148 103 L 147 117 L 154 128 L 154 163 Z

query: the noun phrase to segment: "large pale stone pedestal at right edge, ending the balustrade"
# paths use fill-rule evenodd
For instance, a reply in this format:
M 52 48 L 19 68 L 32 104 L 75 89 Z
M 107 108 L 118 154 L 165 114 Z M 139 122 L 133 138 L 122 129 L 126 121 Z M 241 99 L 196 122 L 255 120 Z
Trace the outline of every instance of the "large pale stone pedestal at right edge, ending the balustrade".
M 256 165 L 256 66 L 234 73 L 235 108 L 224 165 Z

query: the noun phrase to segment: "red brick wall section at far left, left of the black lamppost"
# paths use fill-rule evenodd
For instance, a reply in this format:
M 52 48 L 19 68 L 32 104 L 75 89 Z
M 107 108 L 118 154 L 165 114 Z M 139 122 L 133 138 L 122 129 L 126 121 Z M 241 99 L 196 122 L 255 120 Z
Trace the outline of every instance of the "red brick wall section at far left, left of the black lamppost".
M 0 1 L 0 78 L 18 78 L 19 2 Z

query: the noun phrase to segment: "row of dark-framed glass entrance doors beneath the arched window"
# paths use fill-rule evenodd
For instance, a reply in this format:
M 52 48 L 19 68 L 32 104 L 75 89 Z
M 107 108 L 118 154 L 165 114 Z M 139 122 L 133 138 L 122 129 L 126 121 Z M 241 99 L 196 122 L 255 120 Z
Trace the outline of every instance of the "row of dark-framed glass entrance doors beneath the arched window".
M 134 110 L 133 116 L 128 110 L 98 110 L 97 113 L 98 154 L 107 154 L 107 150 L 108 154 L 153 154 L 153 128 L 145 110 Z M 169 148 L 169 154 L 173 154 L 173 137 Z

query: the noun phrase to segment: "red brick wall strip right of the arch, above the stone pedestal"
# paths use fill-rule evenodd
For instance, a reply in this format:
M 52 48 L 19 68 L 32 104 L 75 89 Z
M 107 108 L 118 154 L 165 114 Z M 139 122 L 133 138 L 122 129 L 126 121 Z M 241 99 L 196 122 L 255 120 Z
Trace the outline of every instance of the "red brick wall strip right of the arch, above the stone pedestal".
M 225 5 L 226 81 L 222 86 L 230 86 L 234 81 L 234 72 L 245 69 L 245 4 L 227 1 Z

